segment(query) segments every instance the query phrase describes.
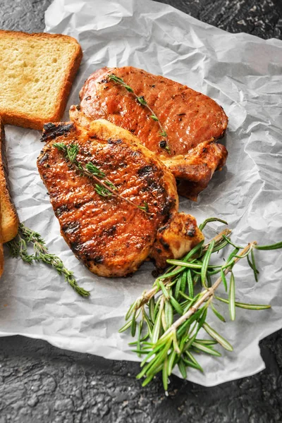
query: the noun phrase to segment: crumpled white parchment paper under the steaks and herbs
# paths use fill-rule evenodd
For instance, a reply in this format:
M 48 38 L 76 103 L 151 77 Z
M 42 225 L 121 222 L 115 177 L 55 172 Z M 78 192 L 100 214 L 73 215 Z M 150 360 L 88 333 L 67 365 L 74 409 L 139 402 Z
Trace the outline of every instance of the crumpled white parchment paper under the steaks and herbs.
M 282 43 L 246 34 L 229 34 L 180 11 L 149 0 L 55 0 L 46 13 L 47 32 L 78 39 L 84 59 L 68 106 L 78 103 L 85 79 L 102 66 L 132 65 L 177 80 L 207 94 L 229 117 L 227 165 L 217 172 L 197 203 L 180 199 L 180 208 L 201 222 L 221 216 L 238 243 L 282 240 Z M 68 120 L 68 107 L 65 114 Z M 0 283 L 0 335 L 42 338 L 60 348 L 137 360 L 129 335 L 118 334 L 128 306 L 153 282 L 145 263 L 127 279 L 99 278 L 73 256 L 59 234 L 59 223 L 36 167 L 40 133 L 6 126 L 13 198 L 21 221 L 41 233 L 51 252 L 91 291 L 80 298 L 56 271 L 24 264 L 6 251 Z M 214 228 L 219 228 L 214 224 Z M 210 232 L 212 235 L 212 231 Z M 257 252 L 259 283 L 239 264 L 236 298 L 269 303 L 271 311 L 236 309 L 235 322 L 212 326 L 233 344 L 223 357 L 199 357 L 204 374 L 188 379 L 205 386 L 264 369 L 259 340 L 282 327 L 281 251 Z M 228 308 L 219 310 L 228 318 Z

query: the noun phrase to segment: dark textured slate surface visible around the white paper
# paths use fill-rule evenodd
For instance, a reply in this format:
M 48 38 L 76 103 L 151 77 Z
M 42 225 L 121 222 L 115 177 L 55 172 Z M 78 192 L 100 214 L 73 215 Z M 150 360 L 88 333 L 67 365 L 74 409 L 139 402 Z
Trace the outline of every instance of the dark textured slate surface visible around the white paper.
M 142 0 L 140 0 L 142 1 Z M 281 0 L 163 0 L 230 32 L 282 39 Z M 0 0 L 0 28 L 39 32 L 50 0 Z M 0 338 L 0 423 L 282 422 L 282 331 L 261 343 L 266 370 L 214 388 L 171 378 L 142 388 L 139 364 Z

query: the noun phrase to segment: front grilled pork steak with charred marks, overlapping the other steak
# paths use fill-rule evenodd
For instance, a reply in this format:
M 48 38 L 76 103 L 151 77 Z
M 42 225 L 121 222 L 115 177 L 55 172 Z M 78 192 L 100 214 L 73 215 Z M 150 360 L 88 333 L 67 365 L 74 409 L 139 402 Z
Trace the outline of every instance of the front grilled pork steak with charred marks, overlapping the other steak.
M 166 258 L 180 257 L 203 239 L 195 218 L 178 214 L 171 172 L 127 130 L 104 120 L 93 121 L 88 129 L 47 124 L 43 140 L 40 176 L 63 238 L 90 271 L 126 276 L 147 257 L 164 267 Z M 99 195 L 96 182 L 76 171 L 54 142 L 78 145 L 78 162 L 97 166 L 118 195 L 133 204 L 116 195 Z

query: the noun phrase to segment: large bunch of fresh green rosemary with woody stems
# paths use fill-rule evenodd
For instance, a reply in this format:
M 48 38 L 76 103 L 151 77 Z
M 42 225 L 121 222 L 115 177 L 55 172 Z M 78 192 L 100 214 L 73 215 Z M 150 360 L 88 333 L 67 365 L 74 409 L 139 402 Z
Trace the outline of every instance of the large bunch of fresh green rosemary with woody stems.
M 216 220 L 221 221 L 216 218 L 207 219 L 199 227 L 203 229 L 209 221 Z M 196 245 L 183 259 L 167 260 L 170 267 L 166 273 L 159 276 L 152 289 L 142 293 L 128 309 L 126 323 L 120 332 L 130 328 L 134 337 L 138 329 L 137 341 L 130 345 L 135 348 L 133 351 L 139 357 L 145 355 L 141 362 L 142 370 L 137 375 L 137 379 L 145 377 L 143 386 L 161 372 L 164 389 L 167 390 L 168 377 L 174 367 L 178 366 L 184 379 L 191 367 L 203 372 L 195 354 L 205 353 L 220 357 L 221 353 L 215 349 L 215 345 L 221 345 L 228 351 L 233 350 L 232 345 L 207 322 L 208 309 L 220 321 L 226 321 L 214 304 L 216 300 L 228 305 L 231 320 L 235 319 L 236 307 L 250 310 L 271 307 L 235 300 L 233 267 L 240 259 L 247 257 L 247 263 L 257 279 L 254 251 L 282 248 L 282 242 L 259 246 L 253 241 L 243 247 L 235 245 L 230 235 L 231 231 L 225 229 L 206 245 L 203 241 Z M 226 262 L 212 264 L 212 255 L 230 245 L 233 249 Z M 213 283 L 212 279 L 216 274 L 218 277 Z M 231 275 L 230 278 L 227 278 L 228 274 Z M 216 295 L 221 283 L 228 298 Z M 200 331 L 207 333 L 209 339 L 202 339 Z

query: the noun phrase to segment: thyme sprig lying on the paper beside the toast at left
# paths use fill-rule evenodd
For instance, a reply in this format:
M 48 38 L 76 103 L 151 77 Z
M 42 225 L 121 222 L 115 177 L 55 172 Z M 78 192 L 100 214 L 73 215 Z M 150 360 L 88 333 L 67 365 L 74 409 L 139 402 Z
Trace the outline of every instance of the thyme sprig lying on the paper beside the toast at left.
M 66 282 L 71 285 L 76 293 L 82 297 L 88 297 L 90 295 L 89 291 L 78 286 L 78 283 L 73 276 L 73 272 L 69 271 L 66 266 L 64 266 L 61 259 L 58 256 L 49 253 L 42 236 L 27 228 L 23 223 L 20 223 L 19 225 L 18 235 L 16 235 L 16 238 L 13 238 L 13 240 L 6 243 L 6 245 L 10 250 L 12 257 L 20 257 L 24 262 L 29 264 L 32 264 L 32 262 L 49 264 L 49 266 L 56 269 L 59 275 L 65 276 Z M 33 247 L 33 254 L 29 254 L 27 250 L 29 246 Z

